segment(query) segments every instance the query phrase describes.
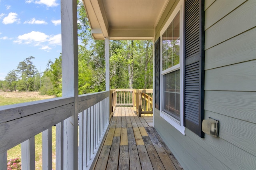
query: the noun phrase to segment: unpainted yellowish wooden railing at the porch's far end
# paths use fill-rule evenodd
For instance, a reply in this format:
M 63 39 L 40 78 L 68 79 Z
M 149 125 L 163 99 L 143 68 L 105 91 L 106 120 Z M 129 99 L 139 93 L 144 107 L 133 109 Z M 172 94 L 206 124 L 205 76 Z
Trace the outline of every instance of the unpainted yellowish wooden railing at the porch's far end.
M 153 89 L 111 89 L 110 115 L 117 106 L 136 107 L 141 114 L 153 114 Z

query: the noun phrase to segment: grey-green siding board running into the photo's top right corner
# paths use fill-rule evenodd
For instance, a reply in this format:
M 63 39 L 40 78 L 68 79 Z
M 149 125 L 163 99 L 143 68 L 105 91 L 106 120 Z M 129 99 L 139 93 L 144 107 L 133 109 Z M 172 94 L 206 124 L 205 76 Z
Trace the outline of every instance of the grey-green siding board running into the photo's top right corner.
M 256 1 L 249 0 L 208 28 L 205 31 L 205 49 L 254 28 L 256 26 L 255 8 Z

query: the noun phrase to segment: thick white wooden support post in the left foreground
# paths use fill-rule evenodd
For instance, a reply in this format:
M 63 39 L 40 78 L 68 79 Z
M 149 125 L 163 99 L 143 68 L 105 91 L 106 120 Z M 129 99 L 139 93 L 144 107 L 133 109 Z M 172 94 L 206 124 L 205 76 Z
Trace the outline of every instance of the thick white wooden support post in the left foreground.
M 78 169 L 77 1 L 61 0 L 62 96 L 74 97 L 72 116 L 64 120 L 63 169 Z

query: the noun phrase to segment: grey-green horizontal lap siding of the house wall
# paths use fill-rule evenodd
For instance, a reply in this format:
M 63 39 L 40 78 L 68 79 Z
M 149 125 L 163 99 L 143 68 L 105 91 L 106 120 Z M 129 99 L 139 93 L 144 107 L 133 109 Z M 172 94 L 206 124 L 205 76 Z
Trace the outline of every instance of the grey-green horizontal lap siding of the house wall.
M 170 16 L 162 16 L 156 28 Z M 164 18 L 164 19 L 163 19 Z M 154 128 L 186 169 L 256 169 L 256 1 L 205 2 L 205 119 L 219 137 L 185 136 L 154 109 Z

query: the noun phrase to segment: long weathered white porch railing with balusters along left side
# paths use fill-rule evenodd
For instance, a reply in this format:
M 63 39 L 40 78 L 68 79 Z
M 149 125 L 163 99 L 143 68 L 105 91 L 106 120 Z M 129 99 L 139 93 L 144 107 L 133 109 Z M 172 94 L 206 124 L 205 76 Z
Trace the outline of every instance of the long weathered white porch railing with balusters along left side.
M 7 169 L 7 150 L 20 143 L 22 143 L 22 169 L 35 169 L 34 136 L 43 132 L 43 169 L 52 170 L 52 126 L 58 124 L 56 136 L 63 136 L 63 121 L 71 117 L 74 111 L 74 97 L 2 106 L 0 169 Z M 109 125 L 109 91 L 80 95 L 78 113 L 78 169 L 85 170 L 93 165 Z M 64 165 L 63 155 L 57 152 L 58 147 L 63 148 L 63 140 L 63 137 L 56 139 L 56 169 L 63 169 Z

